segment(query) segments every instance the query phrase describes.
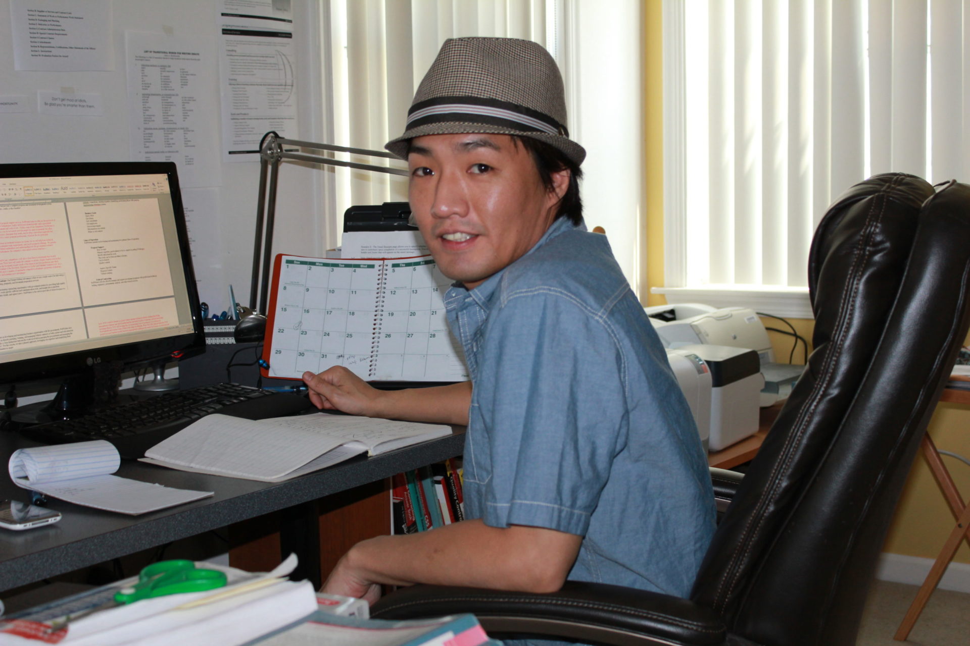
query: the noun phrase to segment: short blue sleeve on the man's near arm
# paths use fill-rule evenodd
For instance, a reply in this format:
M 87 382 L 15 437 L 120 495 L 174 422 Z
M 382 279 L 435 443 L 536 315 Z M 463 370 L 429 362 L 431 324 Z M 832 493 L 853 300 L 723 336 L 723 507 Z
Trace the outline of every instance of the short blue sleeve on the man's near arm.
M 585 536 L 626 444 L 623 352 L 566 292 L 513 295 L 490 319 L 472 399 L 490 472 L 483 520 Z

